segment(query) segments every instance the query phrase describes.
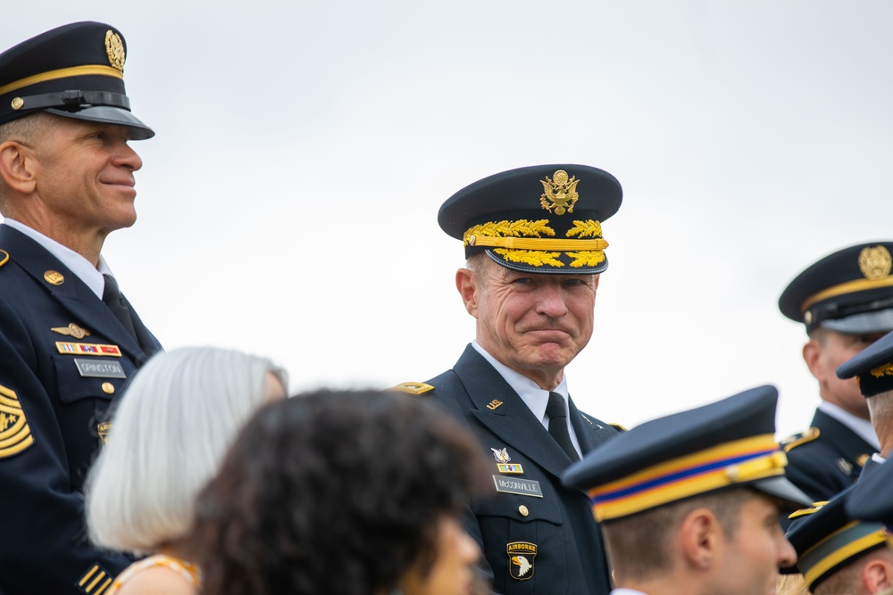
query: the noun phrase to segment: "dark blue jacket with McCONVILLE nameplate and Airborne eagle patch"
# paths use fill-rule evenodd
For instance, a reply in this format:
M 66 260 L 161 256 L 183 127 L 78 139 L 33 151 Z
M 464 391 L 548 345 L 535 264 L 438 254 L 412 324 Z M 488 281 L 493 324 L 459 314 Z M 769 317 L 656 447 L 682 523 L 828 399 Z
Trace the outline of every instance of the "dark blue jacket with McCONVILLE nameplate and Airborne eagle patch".
M 505 480 L 504 489 L 530 492 L 531 482 L 538 483 L 541 497 L 494 488 L 491 496 L 472 502 L 473 517 L 466 528 L 480 543 L 495 591 L 606 595 L 610 586 L 605 552 L 588 497 L 562 486 L 560 477 L 571 459 L 521 397 L 471 345 L 452 370 L 428 384 L 435 387 L 431 398 L 477 436 L 495 485 Z M 573 401 L 569 416 L 584 454 L 618 433 L 581 414 Z M 509 464 L 520 465 L 523 473 L 500 471 L 493 450 L 503 449 Z

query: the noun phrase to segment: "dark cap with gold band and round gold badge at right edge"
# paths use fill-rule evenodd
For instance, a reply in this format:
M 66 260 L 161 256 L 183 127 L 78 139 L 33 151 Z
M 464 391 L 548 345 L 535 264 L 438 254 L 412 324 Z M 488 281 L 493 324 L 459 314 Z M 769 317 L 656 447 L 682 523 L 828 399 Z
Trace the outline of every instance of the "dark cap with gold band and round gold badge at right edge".
M 844 335 L 893 330 L 893 242 L 850 246 L 797 275 L 781 293 L 781 313 Z

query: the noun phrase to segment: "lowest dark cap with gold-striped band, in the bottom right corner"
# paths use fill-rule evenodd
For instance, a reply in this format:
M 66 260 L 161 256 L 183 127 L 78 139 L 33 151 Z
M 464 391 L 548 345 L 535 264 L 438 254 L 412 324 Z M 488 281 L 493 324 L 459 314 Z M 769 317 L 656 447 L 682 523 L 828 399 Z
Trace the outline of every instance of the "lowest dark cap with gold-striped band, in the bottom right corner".
M 797 566 L 782 572 L 802 573 L 810 591 L 855 558 L 887 547 L 889 535 L 882 523 L 858 521 L 847 514 L 845 504 L 854 487 L 789 516 L 788 541 L 797 550 Z

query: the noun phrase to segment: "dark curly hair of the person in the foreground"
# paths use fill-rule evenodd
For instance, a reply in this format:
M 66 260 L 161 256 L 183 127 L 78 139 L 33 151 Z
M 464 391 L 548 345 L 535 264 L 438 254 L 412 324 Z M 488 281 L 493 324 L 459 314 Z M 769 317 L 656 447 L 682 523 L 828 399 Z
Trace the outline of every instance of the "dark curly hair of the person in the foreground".
M 272 403 L 200 495 L 189 549 L 206 595 L 373 595 L 436 556 L 438 518 L 487 479 L 472 436 L 404 393 Z

